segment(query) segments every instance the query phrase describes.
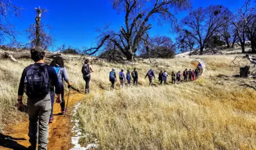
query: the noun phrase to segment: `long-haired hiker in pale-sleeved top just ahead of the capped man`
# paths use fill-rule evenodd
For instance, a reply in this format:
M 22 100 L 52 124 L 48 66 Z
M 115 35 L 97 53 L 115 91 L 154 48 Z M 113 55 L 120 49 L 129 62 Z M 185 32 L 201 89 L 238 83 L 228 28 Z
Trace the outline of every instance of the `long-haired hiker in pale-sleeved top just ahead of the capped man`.
M 50 63 L 50 66 L 53 67 L 55 70 L 59 83 L 60 83 L 60 91 L 61 91 L 61 103 L 60 103 L 60 108 L 61 108 L 61 114 L 65 114 L 65 100 L 64 100 L 64 80 L 65 82 L 68 83 L 69 86 L 72 86 L 73 83 L 69 82 L 68 76 L 67 76 L 67 70 L 66 67 L 64 66 L 64 61 L 63 58 L 60 56 L 57 56 L 53 58 L 52 62 Z M 51 95 L 51 102 L 52 102 L 52 110 L 51 110 L 51 115 L 49 119 L 49 123 L 52 123 L 53 121 L 53 104 L 54 104 L 54 97 L 55 93 L 54 90 L 51 90 L 50 92 Z

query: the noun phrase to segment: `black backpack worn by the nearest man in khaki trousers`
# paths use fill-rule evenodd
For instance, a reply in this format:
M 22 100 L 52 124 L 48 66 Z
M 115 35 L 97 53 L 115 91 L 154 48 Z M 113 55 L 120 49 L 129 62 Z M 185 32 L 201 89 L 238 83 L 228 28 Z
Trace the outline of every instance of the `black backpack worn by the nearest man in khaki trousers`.
M 25 84 L 28 97 L 43 97 L 49 93 L 50 80 L 46 64 L 32 65 L 26 71 Z

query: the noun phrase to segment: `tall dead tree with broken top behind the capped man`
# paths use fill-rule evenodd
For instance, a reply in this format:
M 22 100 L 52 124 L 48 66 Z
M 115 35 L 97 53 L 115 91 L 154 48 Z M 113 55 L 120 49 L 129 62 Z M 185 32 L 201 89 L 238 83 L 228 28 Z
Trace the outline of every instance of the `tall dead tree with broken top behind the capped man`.
M 53 38 L 52 35 L 45 31 L 45 28 L 51 29 L 49 25 L 44 25 L 41 22 L 41 16 L 43 12 L 47 12 L 46 9 L 39 8 L 36 9 L 36 17 L 35 23 L 30 25 L 30 28 L 26 30 L 30 35 L 28 38 L 30 39 L 31 46 L 41 46 L 44 49 L 47 49 L 48 46 L 53 46 Z

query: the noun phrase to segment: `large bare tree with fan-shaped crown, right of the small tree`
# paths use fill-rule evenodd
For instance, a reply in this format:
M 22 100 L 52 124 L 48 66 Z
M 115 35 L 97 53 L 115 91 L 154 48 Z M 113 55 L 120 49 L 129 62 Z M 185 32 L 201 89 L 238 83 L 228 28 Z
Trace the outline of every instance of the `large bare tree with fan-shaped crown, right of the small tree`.
M 228 8 L 221 5 L 200 7 L 181 20 L 181 25 L 195 38 L 202 54 L 209 38 L 222 30 L 225 25 L 224 16 L 228 14 Z

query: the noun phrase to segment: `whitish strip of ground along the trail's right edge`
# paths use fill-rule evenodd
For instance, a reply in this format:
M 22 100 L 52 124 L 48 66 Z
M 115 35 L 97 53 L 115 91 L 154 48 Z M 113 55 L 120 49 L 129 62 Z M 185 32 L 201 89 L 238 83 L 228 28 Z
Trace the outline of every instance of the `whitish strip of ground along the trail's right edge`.
M 74 147 L 69 150 L 97 149 L 98 144 L 92 143 L 92 144 L 88 144 L 86 147 L 81 147 L 81 145 L 79 144 L 80 138 L 89 136 L 89 134 L 86 134 L 86 135 L 82 134 L 82 132 L 81 132 L 82 129 L 79 128 L 79 120 L 76 119 L 77 109 L 79 108 L 80 105 L 81 105 L 81 102 L 79 102 L 75 105 L 75 108 L 74 108 L 73 114 L 72 114 L 73 119 L 71 120 L 71 122 L 75 123 L 75 125 L 73 126 L 71 132 L 75 133 L 75 136 L 71 138 L 71 143 L 74 145 Z

